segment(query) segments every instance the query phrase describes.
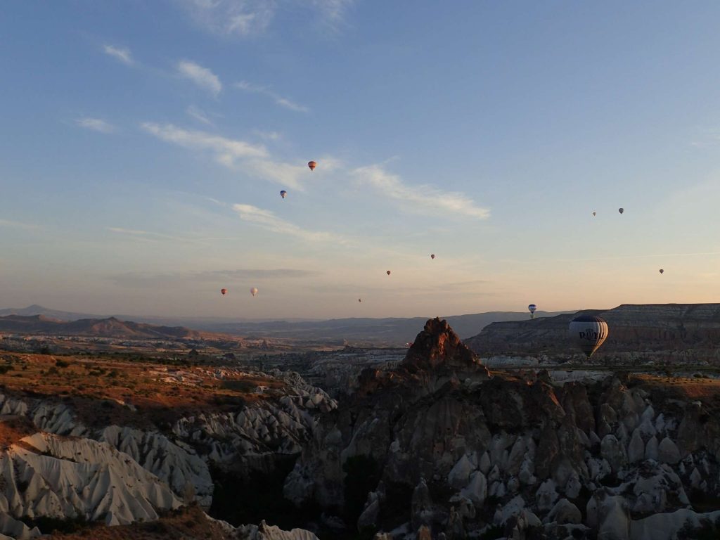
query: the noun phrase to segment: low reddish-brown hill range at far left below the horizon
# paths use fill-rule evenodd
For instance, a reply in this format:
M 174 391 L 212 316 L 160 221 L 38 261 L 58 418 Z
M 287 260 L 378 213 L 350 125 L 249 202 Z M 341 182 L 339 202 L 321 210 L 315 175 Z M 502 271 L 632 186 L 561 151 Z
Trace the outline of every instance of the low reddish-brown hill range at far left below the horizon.
M 0 332 L 128 339 L 202 338 L 202 333 L 182 326 L 132 323 L 114 317 L 107 319 L 80 319 L 68 322 L 49 318 L 45 315 L 6 315 L 0 317 Z

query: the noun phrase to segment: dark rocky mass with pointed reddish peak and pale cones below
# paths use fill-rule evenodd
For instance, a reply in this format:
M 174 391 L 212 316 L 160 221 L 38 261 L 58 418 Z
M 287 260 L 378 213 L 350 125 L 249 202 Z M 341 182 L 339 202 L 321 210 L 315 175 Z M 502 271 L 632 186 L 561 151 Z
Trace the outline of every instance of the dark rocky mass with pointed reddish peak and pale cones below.
M 320 419 L 284 492 L 347 515 L 365 482 L 356 515 L 400 539 L 494 527 L 508 538 L 670 540 L 685 521 L 720 517 L 707 513 L 720 501 L 720 395 L 696 384 L 490 376 L 430 320 L 400 366 L 365 372 Z

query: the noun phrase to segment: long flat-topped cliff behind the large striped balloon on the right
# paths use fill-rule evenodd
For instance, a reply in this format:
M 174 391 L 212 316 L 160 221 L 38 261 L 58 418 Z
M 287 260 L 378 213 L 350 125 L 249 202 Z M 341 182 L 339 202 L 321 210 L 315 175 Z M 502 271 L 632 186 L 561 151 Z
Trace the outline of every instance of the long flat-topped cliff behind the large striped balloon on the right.
M 593 359 L 720 362 L 720 304 L 621 305 L 598 315 L 609 335 Z M 567 338 L 572 315 L 487 325 L 465 341 L 477 354 L 578 354 Z

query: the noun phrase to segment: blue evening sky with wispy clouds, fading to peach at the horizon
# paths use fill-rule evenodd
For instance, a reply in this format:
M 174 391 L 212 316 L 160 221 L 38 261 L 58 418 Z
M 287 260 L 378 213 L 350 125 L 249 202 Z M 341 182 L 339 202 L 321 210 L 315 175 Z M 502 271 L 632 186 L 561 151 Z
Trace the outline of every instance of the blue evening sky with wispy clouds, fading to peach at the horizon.
M 718 302 L 719 19 L 716 1 L 10 2 L 0 307 Z

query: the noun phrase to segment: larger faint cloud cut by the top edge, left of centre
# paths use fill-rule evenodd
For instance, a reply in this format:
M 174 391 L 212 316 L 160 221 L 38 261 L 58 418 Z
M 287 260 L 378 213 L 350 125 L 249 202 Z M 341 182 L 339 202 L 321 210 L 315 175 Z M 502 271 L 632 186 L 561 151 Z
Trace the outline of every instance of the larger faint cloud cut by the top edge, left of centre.
M 215 35 L 248 37 L 267 30 L 275 0 L 180 0 L 196 24 Z

